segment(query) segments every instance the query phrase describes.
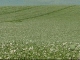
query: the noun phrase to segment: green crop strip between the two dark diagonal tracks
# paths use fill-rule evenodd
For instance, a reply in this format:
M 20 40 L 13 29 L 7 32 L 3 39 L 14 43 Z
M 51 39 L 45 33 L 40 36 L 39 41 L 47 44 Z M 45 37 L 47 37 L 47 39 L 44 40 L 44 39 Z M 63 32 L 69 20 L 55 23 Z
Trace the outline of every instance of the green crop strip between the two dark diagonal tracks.
M 59 11 L 62 10 L 66 10 L 69 9 L 71 7 L 74 6 L 67 6 L 67 7 L 33 7 L 33 8 L 25 8 L 25 9 L 20 9 L 14 12 L 10 12 L 10 13 L 5 13 L 3 15 L 1 15 L 0 19 L 1 22 L 5 21 L 5 22 L 12 22 L 12 21 L 22 21 L 25 19 L 31 19 L 31 18 L 36 18 L 36 17 L 40 17 L 40 16 L 44 16 L 44 15 L 49 15 L 49 14 L 55 14 Z M 27 9 L 27 10 L 26 10 Z M 60 14 L 58 14 L 60 15 Z M 4 18 L 5 17 L 5 18 Z

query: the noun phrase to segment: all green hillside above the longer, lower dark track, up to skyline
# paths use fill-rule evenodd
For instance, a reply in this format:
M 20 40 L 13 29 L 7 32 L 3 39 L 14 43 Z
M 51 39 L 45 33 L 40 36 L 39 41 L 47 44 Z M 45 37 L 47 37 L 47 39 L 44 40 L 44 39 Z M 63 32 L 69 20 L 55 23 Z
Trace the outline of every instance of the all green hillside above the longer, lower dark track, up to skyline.
M 69 9 L 71 7 L 73 6 L 2 7 L 0 9 L 0 21 L 7 22 L 31 19 Z

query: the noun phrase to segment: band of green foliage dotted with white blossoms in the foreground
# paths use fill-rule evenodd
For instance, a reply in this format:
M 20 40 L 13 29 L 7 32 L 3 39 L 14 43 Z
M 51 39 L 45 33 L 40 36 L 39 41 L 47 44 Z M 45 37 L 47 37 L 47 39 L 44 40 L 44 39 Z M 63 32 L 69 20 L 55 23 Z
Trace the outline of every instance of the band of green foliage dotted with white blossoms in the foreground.
M 73 44 L 80 46 L 79 43 L 68 42 L 38 45 L 31 40 L 23 43 L 9 41 L 0 45 L 0 59 L 79 59 L 80 49 L 75 47 L 72 50 L 70 46 Z

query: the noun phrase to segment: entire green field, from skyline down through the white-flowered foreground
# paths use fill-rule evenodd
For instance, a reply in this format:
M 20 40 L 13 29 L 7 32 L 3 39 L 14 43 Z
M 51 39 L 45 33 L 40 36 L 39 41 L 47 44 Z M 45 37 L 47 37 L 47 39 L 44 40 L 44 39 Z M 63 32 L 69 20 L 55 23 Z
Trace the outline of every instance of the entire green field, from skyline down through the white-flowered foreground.
M 79 59 L 80 6 L 0 7 L 0 59 Z

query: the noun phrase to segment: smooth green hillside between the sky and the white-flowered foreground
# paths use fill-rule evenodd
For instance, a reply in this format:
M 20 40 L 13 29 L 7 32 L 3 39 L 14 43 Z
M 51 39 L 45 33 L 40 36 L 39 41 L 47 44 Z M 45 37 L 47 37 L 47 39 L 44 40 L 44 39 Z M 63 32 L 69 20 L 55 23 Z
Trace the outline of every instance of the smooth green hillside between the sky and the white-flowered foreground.
M 0 40 L 80 42 L 80 6 L 0 7 Z

